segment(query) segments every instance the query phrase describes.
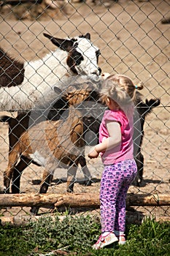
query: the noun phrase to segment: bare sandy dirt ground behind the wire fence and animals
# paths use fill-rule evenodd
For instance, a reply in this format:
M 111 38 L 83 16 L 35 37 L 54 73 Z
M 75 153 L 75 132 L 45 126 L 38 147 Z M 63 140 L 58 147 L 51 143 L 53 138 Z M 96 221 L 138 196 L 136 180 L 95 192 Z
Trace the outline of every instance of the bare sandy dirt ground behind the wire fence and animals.
M 94 5 L 78 2 L 67 4 L 64 12 L 57 12 L 53 18 L 45 16 L 39 20 L 17 20 L 14 15 L 1 15 L 2 48 L 14 57 L 33 60 L 54 50 L 42 33 L 47 32 L 59 38 L 74 37 L 90 32 L 91 40 L 101 50 L 99 66 L 102 71 L 123 73 L 144 82 L 143 99 L 161 98 L 161 105 L 147 117 L 144 126 L 144 182 L 142 187 L 131 186 L 129 192 L 168 194 L 169 175 L 169 135 L 170 135 L 170 86 L 169 86 L 169 24 L 161 19 L 169 14 L 168 1 L 107 1 Z M 110 6 L 109 6 L 110 4 Z M 109 7 L 108 7 L 109 6 Z M 140 7 L 140 9 L 139 9 Z M 50 12 L 49 12 L 50 13 Z M 48 14 L 49 15 L 49 14 Z M 51 17 L 54 16 L 50 15 Z M 2 116 L 4 113 L 0 112 Z M 8 113 L 9 114 L 9 113 Z M 0 187 L 3 188 L 3 171 L 8 159 L 8 126 L 0 123 Z M 86 155 L 90 150 L 86 148 Z M 98 193 L 102 172 L 101 159 L 87 159 L 93 184 L 81 184 L 82 172 L 77 172 L 74 192 Z M 42 167 L 31 165 L 24 170 L 21 192 L 38 192 L 42 178 Z M 58 182 L 61 181 L 62 182 Z M 48 192 L 66 192 L 66 170 L 58 168 Z M 155 214 L 170 217 L 169 207 L 136 207 L 136 211 L 146 215 Z M 28 209 L 1 209 L 1 214 L 26 214 Z M 48 211 L 48 209 L 43 209 Z

